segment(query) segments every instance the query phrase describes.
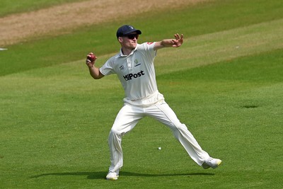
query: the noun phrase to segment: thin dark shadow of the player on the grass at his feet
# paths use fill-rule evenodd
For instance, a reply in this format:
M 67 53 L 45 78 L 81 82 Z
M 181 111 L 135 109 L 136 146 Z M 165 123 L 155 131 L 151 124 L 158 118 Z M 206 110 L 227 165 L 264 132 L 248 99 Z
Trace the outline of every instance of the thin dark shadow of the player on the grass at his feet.
M 105 179 L 107 172 L 97 171 L 97 172 L 74 172 L 74 173 L 46 173 L 37 176 L 31 176 L 30 178 L 39 178 L 42 176 L 87 176 L 88 179 Z M 214 173 L 172 173 L 172 174 L 150 174 L 150 173 L 133 173 L 127 171 L 121 171 L 121 176 L 137 176 L 137 177 L 158 177 L 158 176 L 214 176 Z

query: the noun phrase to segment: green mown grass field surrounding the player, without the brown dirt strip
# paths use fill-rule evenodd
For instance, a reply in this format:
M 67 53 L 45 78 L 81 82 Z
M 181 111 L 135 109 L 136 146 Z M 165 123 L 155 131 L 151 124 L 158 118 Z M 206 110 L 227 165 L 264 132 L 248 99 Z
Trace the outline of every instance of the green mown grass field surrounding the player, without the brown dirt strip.
M 0 14 L 29 11 L 10 1 Z M 28 4 L 28 2 L 30 2 Z M 70 1 L 38 1 L 37 7 Z M 184 33 L 158 51 L 158 88 L 217 169 L 197 166 L 171 131 L 150 118 L 123 138 L 125 165 L 106 181 L 108 133 L 124 92 L 116 76 L 93 80 L 119 50 L 122 21 L 30 38 L 0 51 L 0 188 L 283 188 L 283 4 L 211 1 L 127 18 L 139 42 Z M 165 22 L 165 23 L 164 23 Z M 90 40 L 91 39 L 91 40 Z M 161 147 L 161 150 L 158 150 Z

